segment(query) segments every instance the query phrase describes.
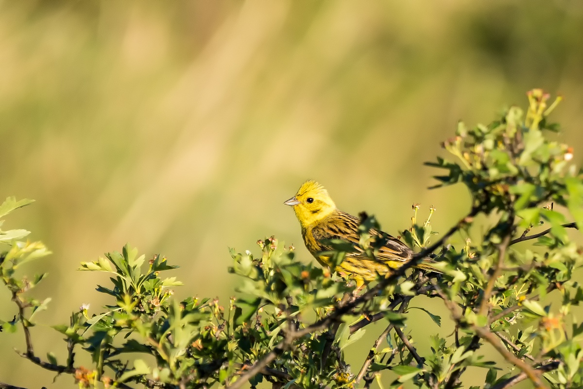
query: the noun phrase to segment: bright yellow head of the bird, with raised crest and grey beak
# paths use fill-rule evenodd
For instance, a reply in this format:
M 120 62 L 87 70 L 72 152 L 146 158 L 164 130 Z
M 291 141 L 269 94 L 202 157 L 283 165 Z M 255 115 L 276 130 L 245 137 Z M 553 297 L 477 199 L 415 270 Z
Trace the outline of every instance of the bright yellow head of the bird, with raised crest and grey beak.
M 336 204 L 328 195 L 328 191 L 312 180 L 301 184 L 296 195 L 283 204 L 293 206 L 302 227 L 319 222 L 336 210 Z

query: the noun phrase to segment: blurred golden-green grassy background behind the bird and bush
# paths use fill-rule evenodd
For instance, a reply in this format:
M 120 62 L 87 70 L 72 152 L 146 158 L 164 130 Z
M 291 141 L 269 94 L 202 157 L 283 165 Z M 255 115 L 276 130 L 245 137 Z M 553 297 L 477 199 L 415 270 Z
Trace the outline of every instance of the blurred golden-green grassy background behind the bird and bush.
M 392 234 L 413 202 L 422 215 L 433 204 L 443 231 L 468 198 L 428 191 L 436 171 L 422 163 L 458 120 L 525 106 L 532 87 L 566 97 L 557 139 L 581 162 L 581 31 L 575 1 L 0 2 L 0 197 L 37 199 L 6 224 L 54 252 L 26 270 L 50 273 L 34 291 L 53 298 L 37 354 L 62 358 L 48 325 L 108 303 L 94 290 L 107 277 L 76 272 L 79 261 L 127 241 L 180 265 L 179 296 L 232 295 L 227 247 L 272 234 L 311 260 L 282 205 L 306 178 Z M 8 300 L 2 290 L 5 320 Z M 438 327 L 414 311 L 429 352 Z M 20 338 L 0 334 L 0 381 L 73 386 L 17 358 Z M 368 343 L 350 351 L 354 366 Z

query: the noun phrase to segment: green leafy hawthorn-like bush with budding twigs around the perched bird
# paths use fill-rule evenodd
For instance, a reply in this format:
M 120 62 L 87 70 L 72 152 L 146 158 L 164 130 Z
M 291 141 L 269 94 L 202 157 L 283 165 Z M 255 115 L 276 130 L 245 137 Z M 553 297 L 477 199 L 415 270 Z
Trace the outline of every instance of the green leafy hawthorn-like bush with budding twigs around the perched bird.
M 375 379 L 381 385 L 381 374 L 390 377 L 391 388 L 403 383 L 458 388 L 470 366 L 484 370 L 484 388 L 507 388 L 523 379 L 535 387 L 581 387 L 583 324 L 571 310 L 583 301 L 583 287 L 574 279 L 582 248 L 567 229 L 583 225 L 583 175 L 570 163 L 573 150 L 547 136 L 557 129 L 547 116 L 559 100 L 547 107 L 549 96 L 541 90 L 528 97 L 526 112 L 511 107 L 489 125 L 458 125 L 455 138 L 444 142 L 454 162 L 438 157 L 430 165 L 446 171 L 436 177 L 438 186 L 461 183 L 470 192 L 468 215 L 432 243 L 435 209 L 417 223 L 419 206 L 413 205 L 412 226 L 402 237 L 419 254 L 363 290 L 330 269 L 297 261 L 293 247 L 271 237 L 258 241 L 258 254 L 231 252 L 229 271 L 242 282 L 228 307 L 216 299 L 178 301 L 171 288 L 182 284 L 161 276 L 176 267 L 160 255 L 146 261 L 125 246 L 121 253 L 82 262 L 80 270 L 111 274 L 110 285 L 97 286 L 111 303 L 91 317 L 84 304 L 69 325 L 55 326 L 65 337 L 68 358 L 58 361 L 48 353 L 44 362 L 34 354 L 30 327 L 49 299 L 24 297 L 44 275 L 28 281 L 15 271 L 48 251 L 41 243 L 18 240 L 28 232 L 11 230 L 0 232 L 6 246 L 0 271 L 19 310 L 0 323 L 6 332 L 22 327 L 25 358 L 72 374 L 87 388 L 238 389 L 268 382 L 286 389 L 334 389 L 369 387 Z M 0 216 L 29 202 L 9 198 Z M 478 215 L 488 217 L 476 223 Z M 368 232 L 378 223 L 366 214 L 361 219 L 359 244 L 375 258 L 382 242 Z M 541 224 L 547 229 L 529 235 Z M 456 235 L 462 246 L 452 246 Z M 533 239 L 538 247 L 522 243 Z M 346 242 L 332 243 L 335 262 L 352 250 Z M 410 269 L 427 255 L 442 274 Z M 549 293 L 560 295 L 561 303 L 549 303 Z M 431 336 L 431 353 L 424 356 L 408 334 L 408 312 L 422 310 L 427 320 L 442 322 L 424 307 L 409 306 L 422 295 L 445 304 L 455 322 L 447 329 L 450 336 Z M 363 342 L 367 325 L 378 320 L 386 328 L 353 370 L 345 352 Z M 485 343 L 513 369 L 484 358 Z M 90 354 L 91 367 L 76 365 L 81 351 Z

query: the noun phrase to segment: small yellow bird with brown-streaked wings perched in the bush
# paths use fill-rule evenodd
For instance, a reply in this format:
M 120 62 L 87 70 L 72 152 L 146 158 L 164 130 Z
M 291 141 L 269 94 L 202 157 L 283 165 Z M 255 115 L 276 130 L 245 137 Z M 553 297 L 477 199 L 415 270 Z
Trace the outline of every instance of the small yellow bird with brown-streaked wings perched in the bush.
M 293 206 L 300 221 L 305 247 L 322 266 L 329 268 L 332 265 L 331 257 L 321 254 L 324 251 L 333 251 L 328 243 L 330 239 L 352 243 L 355 251 L 346 253 L 336 271 L 354 279 L 358 288 L 366 281 L 377 279 L 377 274 L 391 274 L 391 269 L 400 268 L 415 254 L 400 240 L 383 232 L 370 230 L 373 237 L 380 237 L 382 234 L 387 236 L 387 242 L 378 250 L 375 258 L 368 257 L 359 246 L 360 219 L 336 208 L 328 191 L 315 181 L 305 181 L 297 194 L 283 204 Z M 435 261 L 426 258 L 416 268 L 439 272 L 431 266 L 434 263 Z

